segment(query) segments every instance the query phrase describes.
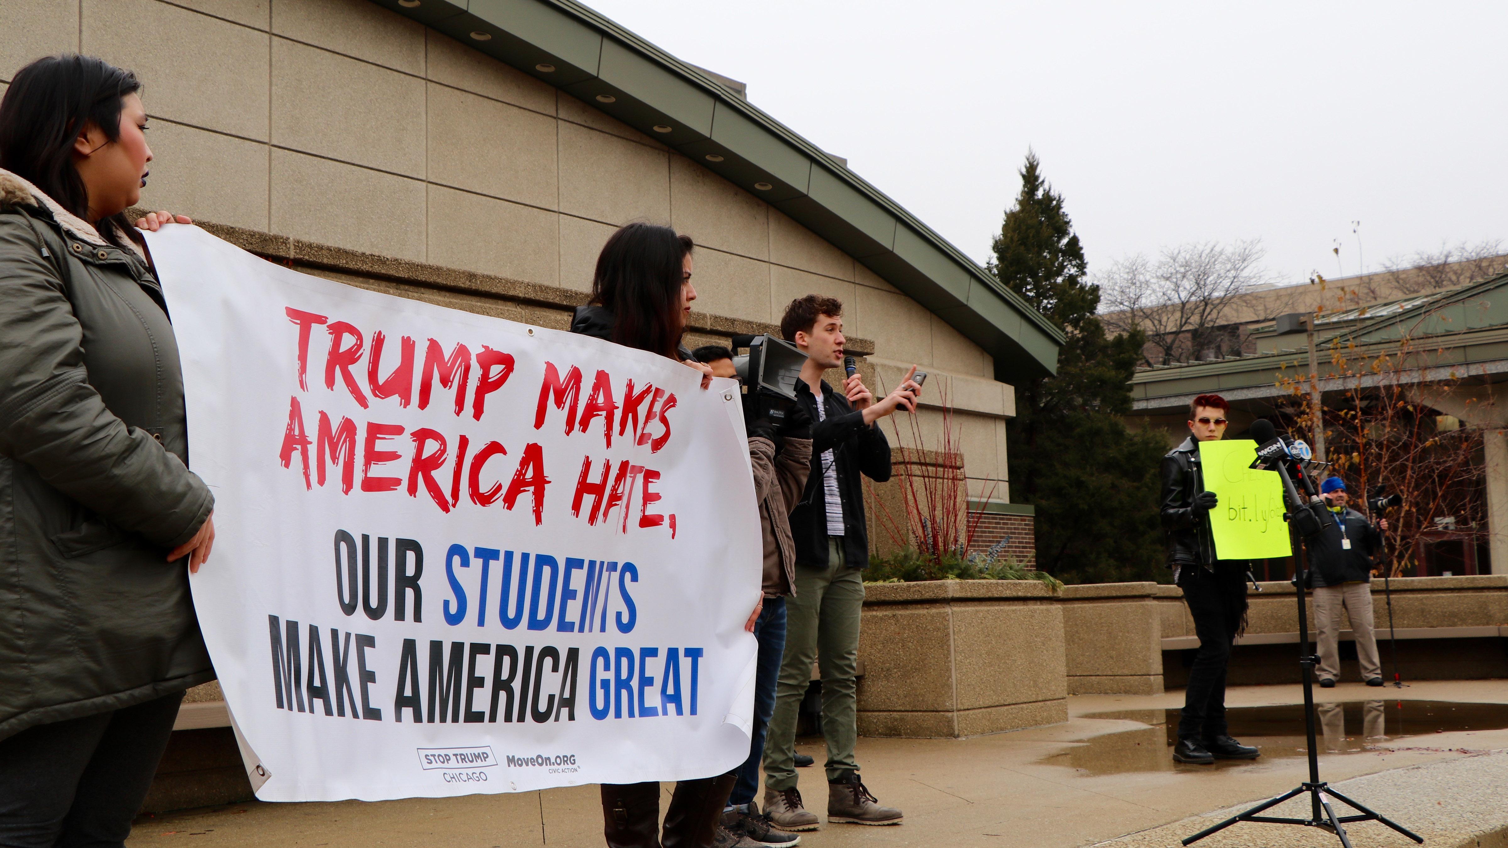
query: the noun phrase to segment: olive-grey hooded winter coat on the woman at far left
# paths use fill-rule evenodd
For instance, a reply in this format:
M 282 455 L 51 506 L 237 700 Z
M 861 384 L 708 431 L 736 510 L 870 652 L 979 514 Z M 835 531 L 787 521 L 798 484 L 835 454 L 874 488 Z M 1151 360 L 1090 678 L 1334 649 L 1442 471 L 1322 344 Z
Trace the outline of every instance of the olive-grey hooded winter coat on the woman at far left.
M 146 261 L 0 171 L 0 739 L 214 679 L 164 561 L 214 507 L 187 457 Z

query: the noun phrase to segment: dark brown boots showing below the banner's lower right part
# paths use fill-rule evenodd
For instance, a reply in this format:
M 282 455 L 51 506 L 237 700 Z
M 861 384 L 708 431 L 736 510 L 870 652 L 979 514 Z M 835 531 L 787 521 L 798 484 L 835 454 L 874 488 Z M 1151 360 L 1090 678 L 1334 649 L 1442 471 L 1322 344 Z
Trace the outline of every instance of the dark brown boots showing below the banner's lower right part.
M 676 783 L 659 828 L 659 783 L 603 783 L 602 828 L 608 848 L 710 848 L 736 777 Z

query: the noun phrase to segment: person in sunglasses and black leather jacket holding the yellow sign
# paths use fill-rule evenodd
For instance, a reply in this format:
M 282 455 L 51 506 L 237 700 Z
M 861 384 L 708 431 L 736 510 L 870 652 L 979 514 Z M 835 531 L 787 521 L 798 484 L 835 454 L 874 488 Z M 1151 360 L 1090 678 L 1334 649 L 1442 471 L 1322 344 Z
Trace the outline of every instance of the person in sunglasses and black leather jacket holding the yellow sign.
M 1209 510 L 1218 504 L 1206 492 L 1199 442 L 1215 442 L 1231 424 L 1231 404 L 1202 394 L 1188 404 L 1190 436 L 1163 457 L 1163 530 L 1173 582 L 1194 619 L 1199 653 L 1188 670 L 1184 712 L 1178 723 L 1176 762 L 1206 765 L 1215 759 L 1256 759 L 1261 751 L 1231 738 L 1224 711 L 1226 664 L 1231 646 L 1246 626 L 1246 560 L 1218 560 L 1209 531 Z

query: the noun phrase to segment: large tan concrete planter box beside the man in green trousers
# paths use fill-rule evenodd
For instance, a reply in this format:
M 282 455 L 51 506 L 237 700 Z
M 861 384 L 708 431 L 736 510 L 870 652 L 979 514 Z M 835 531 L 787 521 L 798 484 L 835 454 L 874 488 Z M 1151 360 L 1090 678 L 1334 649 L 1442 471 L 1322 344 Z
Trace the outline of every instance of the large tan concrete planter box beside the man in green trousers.
M 1068 720 L 1063 607 L 1038 581 L 866 587 L 858 732 L 962 738 Z

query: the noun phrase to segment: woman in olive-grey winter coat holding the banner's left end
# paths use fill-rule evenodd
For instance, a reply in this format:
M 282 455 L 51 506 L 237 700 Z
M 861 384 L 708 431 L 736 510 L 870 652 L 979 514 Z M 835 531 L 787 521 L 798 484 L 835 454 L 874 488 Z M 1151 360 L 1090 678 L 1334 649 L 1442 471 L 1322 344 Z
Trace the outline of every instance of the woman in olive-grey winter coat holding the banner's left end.
M 140 88 L 54 56 L 0 101 L 3 845 L 124 845 L 184 690 L 214 679 L 188 593 L 214 496 L 124 216 L 152 160 Z

